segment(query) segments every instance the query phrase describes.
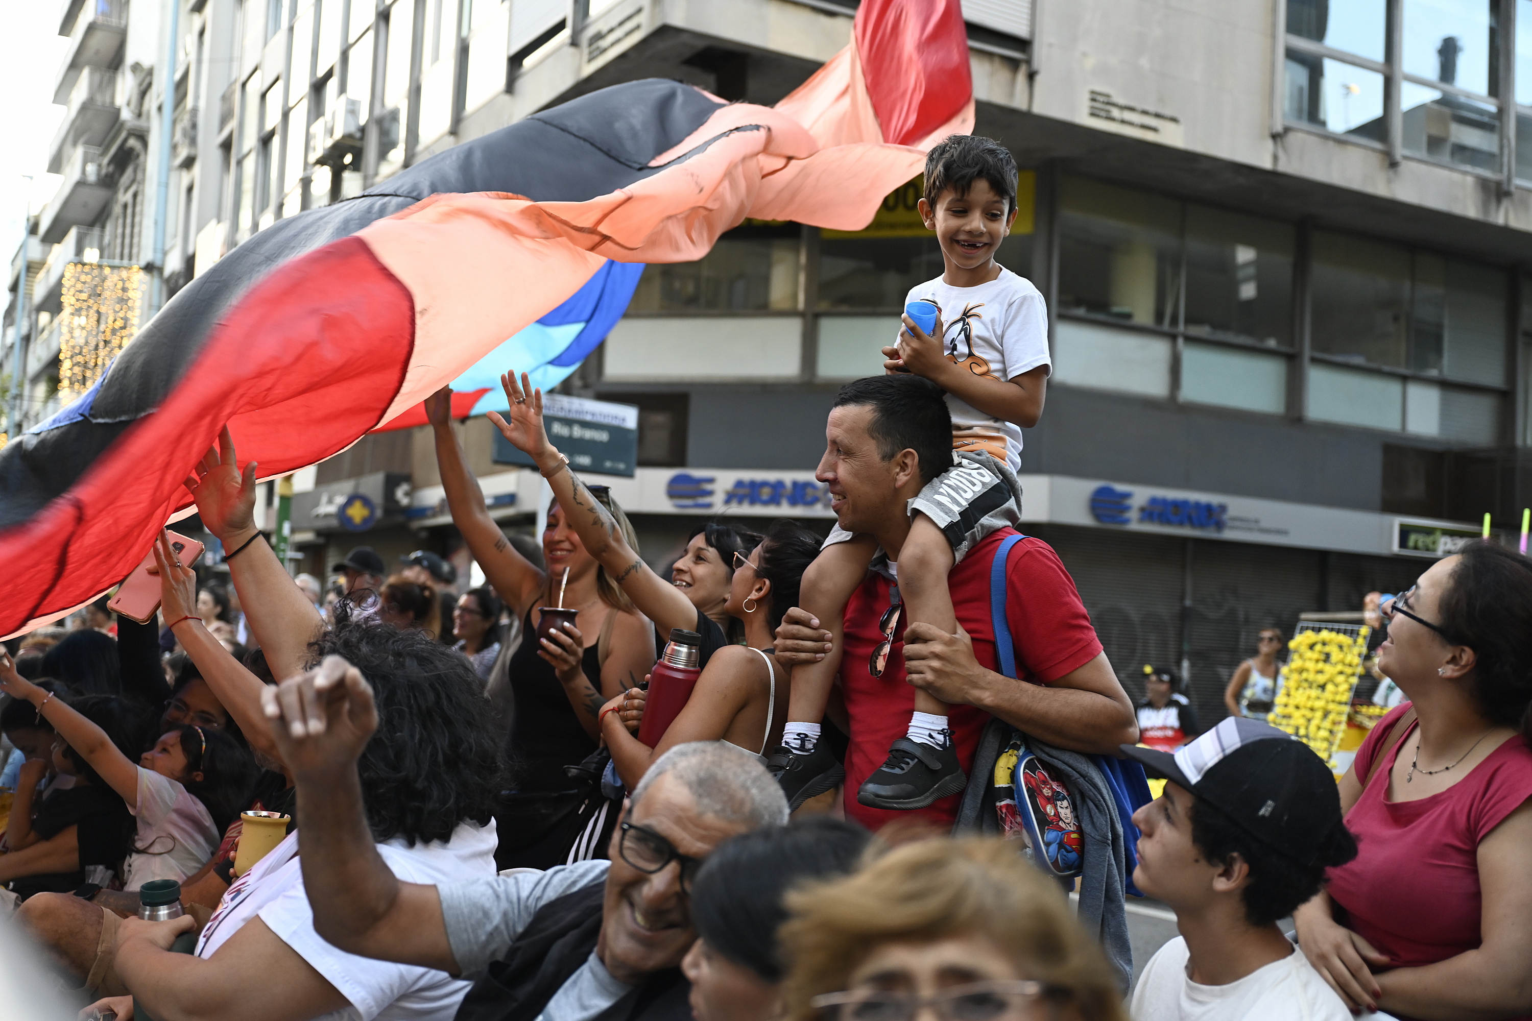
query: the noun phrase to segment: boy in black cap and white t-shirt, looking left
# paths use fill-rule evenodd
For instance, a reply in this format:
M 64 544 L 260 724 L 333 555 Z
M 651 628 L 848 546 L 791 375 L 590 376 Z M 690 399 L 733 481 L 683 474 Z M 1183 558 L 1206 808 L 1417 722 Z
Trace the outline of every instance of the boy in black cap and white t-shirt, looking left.
M 1276 920 L 1356 857 L 1330 768 L 1276 727 L 1230 716 L 1167 753 L 1121 745 L 1164 794 L 1134 813 L 1134 882 L 1181 935 L 1149 960 L 1134 1021 L 1351 1021 Z

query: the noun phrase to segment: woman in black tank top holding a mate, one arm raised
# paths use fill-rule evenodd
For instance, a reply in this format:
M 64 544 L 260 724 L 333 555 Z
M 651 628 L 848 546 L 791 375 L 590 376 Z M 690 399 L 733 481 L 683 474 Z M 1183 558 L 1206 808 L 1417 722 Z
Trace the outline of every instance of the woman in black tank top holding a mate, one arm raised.
M 637 686 L 654 666 L 653 625 L 624 592 L 620 572 L 585 548 L 576 522 L 596 517 L 613 534 L 620 533 L 628 548 L 639 542 L 610 493 L 582 487 L 570 494 L 550 479 L 555 502 L 541 536 L 547 568 L 521 556 L 490 517 L 464 462 L 450 424 L 450 398 L 452 392 L 441 389 L 426 400 L 447 507 L 484 577 L 522 621 L 521 641 L 501 651 L 490 681 L 492 700 L 513 706 L 507 750 L 516 764 L 516 785 L 498 816 L 496 862 L 501 868 L 548 868 L 565 860 L 582 827 L 578 813 L 587 793 L 576 790 L 579 784 L 565 767 L 579 765 L 596 750 L 597 716 L 607 700 Z M 539 635 L 541 608 L 552 606 L 573 611 L 574 621 Z

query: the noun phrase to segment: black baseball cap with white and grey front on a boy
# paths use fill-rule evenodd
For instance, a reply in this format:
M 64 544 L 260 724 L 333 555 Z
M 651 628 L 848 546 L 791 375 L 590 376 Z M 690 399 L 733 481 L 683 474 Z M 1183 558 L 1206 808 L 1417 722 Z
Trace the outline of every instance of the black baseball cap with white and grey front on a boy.
M 1342 825 L 1330 767 L 1307 744 L 1259 719 L 1229 716 L 1174 753 L 1137 744 L 1121 750 L 1151 776 L 1184 787 L 1304 865 L 1314 863 L 1325 834 Z

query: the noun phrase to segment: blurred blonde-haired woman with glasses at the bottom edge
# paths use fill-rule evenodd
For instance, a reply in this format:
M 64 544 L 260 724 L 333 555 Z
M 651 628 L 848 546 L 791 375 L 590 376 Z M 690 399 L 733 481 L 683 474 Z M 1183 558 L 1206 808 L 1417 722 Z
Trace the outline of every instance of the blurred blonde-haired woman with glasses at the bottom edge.
M 999 839 L 907 843 L 787 895 L 792 1021 L 1124 1021 L 1060 889 Z

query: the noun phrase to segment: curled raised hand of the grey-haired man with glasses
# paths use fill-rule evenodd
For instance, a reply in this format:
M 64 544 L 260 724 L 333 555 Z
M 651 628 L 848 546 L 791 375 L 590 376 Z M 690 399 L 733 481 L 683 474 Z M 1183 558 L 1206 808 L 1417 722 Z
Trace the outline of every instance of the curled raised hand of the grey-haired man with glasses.
M 328 779 L 354 768 L 378 727 L 372 686 L 339 655 L 268 686 L 260 709 L 294 778 Z

